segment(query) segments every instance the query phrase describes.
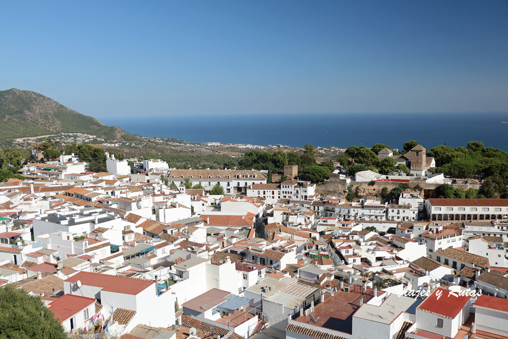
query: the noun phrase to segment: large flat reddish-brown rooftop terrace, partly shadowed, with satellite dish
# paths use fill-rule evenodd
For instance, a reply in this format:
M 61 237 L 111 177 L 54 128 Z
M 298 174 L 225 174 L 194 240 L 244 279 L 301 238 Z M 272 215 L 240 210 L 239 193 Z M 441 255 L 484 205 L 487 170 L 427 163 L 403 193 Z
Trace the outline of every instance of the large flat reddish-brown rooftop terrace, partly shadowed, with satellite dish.
M 316 320 L 315 324 L 309 316 L 300 317 L 296 321 L 352 334 L 353 314 L 359 309 L 362 298 L 365 303 L 372 296 L 356 292 L 337 292 L 314 307 L 312 316 Z

